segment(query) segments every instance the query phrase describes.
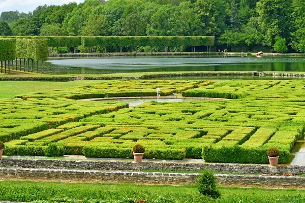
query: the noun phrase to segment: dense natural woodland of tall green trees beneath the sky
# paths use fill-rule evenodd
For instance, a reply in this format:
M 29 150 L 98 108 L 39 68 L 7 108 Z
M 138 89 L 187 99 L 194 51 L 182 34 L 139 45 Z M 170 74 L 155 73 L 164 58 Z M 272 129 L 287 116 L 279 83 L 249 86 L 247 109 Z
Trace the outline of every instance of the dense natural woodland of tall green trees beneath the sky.
M 214 49 L 244 51 L 280 39 L 288 51 L 305 52 L 303 11 L 305 0 L 85 0 L 3 12 L 0 35 L 215 36 Z

